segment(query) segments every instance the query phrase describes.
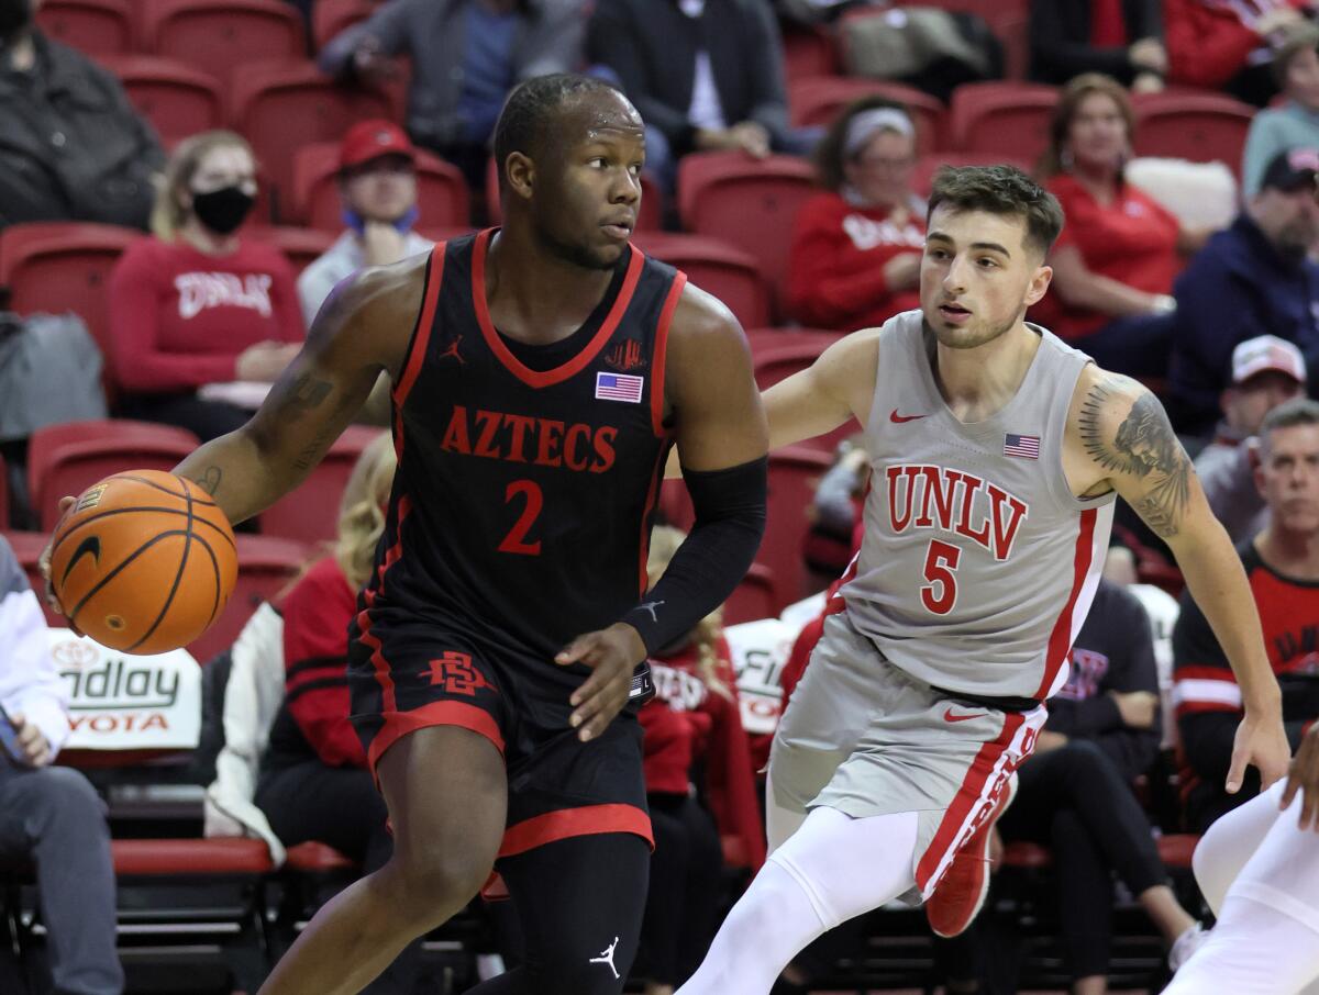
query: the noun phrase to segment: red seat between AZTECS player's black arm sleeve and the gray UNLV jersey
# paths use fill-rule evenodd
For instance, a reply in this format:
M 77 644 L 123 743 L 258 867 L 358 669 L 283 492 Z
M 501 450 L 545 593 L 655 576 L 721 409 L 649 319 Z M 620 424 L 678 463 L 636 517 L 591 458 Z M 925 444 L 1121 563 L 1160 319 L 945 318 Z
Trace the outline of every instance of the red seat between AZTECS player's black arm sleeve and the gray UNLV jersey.
M 769 455 L 768 521 L 757 559 L 778 583 L 780 610 L 809 593 L 805 589 L 802 543 L 810 528 L 809 511 L 815 484 L 828 470 L 830 463 L 826 453 L 801 445 Z

